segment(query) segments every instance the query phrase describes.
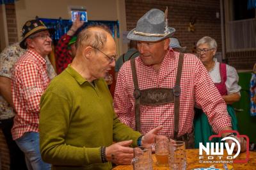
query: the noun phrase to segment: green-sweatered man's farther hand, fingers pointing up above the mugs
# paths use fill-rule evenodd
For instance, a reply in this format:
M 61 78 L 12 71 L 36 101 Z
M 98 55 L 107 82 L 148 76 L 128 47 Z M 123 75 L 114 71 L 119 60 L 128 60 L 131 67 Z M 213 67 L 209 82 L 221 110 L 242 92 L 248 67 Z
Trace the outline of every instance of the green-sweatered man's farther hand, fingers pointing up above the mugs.
M 152 143 L 155 143 L 154 139 L 157 133 L 162 130 L 163 126 L 159 126 L 150 130 L 147 134 L 143 135 L 141 139 L 141 146 L 148 148 Z

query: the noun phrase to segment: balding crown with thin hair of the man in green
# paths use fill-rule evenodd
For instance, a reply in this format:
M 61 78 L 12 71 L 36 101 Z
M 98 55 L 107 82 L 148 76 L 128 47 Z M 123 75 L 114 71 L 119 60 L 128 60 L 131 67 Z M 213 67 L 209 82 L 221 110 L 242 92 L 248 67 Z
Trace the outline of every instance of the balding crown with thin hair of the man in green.
M 86 27 L 77 36 L 77 50 L 84 49 L 84 47 L 88 46 L 95 47 L 97 49 L 102 49 L 105 43 L 107 42 L 107 33 L 111 35 L 111 31 L 108 29 L 107 26 L 94 25 Z

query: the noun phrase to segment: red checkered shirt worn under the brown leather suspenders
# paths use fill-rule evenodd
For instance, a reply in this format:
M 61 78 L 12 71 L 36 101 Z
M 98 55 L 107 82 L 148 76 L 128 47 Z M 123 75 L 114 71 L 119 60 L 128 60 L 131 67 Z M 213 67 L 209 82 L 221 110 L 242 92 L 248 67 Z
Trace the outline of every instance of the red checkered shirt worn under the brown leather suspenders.
M 141 58 L 136 58 L 136 73 L 140 89 L 173 88 L 175 85 L 179 53 L 169 50 L 163 59 L 157 73 L 152 66 L 143 65 Z M 193 54 L 184 54 L 184 64 L 180 81 L 180 120 L 179 134 L 184 135 L 193 129 L 194 105 L 203 108 L 214 132 L 224 127 L 231 127 L 227 105 L 221 98 L 218 89 L 214 86 L 211 77 L 204 65 Z M 132 81 L 131 63 L 124 63 L 118 73 L 116 82 L 114 109 L 118 118 L 135 129 L 134 117 L 134 84 Z M 159 134 L 173 138 L 174 134 L 174 107 L 172 104 L 141 105 L 141 133 L 159 125 L 163 130 Z

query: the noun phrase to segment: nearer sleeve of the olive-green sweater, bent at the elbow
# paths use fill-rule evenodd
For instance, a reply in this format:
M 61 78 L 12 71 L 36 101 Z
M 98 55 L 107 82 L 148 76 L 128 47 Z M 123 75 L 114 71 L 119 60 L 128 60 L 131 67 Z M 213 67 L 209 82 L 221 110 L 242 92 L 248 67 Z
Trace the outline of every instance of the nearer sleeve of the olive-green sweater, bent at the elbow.
M 59 166 L 84 166 L 101 163 L 100 148 L 72 146 L 65 143 L 70 125 L 71 102 L 47 91 L 42 95 L 39 120 L 42 159 Z

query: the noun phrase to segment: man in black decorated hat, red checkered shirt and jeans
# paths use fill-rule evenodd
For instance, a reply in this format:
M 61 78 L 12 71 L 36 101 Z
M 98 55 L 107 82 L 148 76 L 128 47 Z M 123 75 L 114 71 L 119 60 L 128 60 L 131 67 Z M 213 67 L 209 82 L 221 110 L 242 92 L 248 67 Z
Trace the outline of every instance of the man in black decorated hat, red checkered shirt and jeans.
M 51 169 L 42 161 L 38 133 L 40 97 L 52 78 L 45 59 L 52 50 L 51 33 L 54 29 L 48 29 L 41 20 L 27 21 L 20 42 L 26 52 L 13 67 L 12 97 L 17 114 L 12 136 L 25 154 L 28 169 Z

